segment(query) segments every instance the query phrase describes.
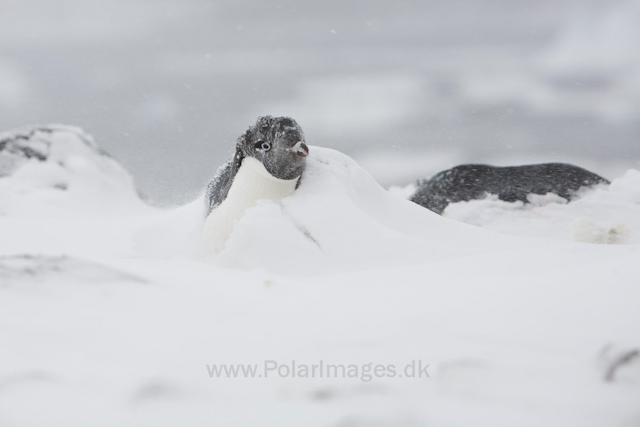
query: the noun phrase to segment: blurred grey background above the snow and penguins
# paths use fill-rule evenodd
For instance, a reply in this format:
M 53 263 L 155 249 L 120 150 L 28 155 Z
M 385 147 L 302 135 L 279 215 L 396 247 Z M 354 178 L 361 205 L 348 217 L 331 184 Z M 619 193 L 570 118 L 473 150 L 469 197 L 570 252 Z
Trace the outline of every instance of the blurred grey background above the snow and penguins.
M 406 184 L 462 162 L 640 168 L 640 2 L 0 0 L 0 130 L 92 134 L 154 203 L 260 114 Z

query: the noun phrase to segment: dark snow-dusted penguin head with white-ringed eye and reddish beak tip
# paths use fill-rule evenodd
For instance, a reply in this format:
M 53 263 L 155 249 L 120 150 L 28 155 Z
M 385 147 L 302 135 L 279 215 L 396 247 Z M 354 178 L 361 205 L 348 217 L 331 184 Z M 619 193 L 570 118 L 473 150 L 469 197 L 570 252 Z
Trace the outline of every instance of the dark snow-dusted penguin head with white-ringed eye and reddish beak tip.
M 263 116 L 238 138 L 237 155 L 254 157 L 275 178 L 290 180 L 302 175 L 309 147 L 295 120 Z

